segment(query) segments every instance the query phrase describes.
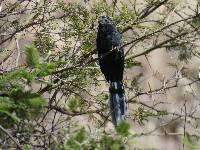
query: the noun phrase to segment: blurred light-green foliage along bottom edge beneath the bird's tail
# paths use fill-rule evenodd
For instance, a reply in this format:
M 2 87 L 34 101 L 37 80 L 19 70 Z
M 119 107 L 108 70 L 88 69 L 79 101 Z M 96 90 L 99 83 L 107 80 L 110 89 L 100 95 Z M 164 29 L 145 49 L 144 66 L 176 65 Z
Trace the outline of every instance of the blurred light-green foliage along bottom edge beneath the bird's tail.
M 123 123 L 118 127 L 118 133 L 115 137 L 107 134 L 101 134 L 98 136 L 91 136 L 91 131 L 88 132 L 84 127 L 77 127 L 77 130 L 70 133 L 68 130 L 63 131 L 63 134 L 67 135 L 67 138 L 64 141 L 59 141 L 58 149 L 112 149 L 118 150 L 122 147 L 127 147 L 123 143 L 123 138 L 128 136 L 128 124 Z M 57 141 L 58 142 L 58 141 Z M 62 144 L 63 143 L 63 144 Z

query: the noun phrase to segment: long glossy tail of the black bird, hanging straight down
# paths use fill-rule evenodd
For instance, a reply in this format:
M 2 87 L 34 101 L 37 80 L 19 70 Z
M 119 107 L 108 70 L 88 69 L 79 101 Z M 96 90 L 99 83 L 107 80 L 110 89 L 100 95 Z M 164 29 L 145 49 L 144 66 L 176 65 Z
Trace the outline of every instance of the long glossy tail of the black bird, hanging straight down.
M 109 92 L 112 121 L 115 126 L 118 126 L 125 119 L 127 111 L 123 83 L 120 81 L 110 82 Z

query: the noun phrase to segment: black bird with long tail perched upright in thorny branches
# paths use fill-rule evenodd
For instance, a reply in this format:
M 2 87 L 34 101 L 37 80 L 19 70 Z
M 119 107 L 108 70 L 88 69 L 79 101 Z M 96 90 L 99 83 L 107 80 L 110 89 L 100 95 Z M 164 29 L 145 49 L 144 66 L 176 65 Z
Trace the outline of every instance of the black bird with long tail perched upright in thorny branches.
M 123 87 L 124 50 L 122 35 L 108 16 L 99 17 L 97 33 L 97 51 L 99 65 L 106 81 L 109 83 L 110 111 L 115 126 L 125 117 L 126 99 Z

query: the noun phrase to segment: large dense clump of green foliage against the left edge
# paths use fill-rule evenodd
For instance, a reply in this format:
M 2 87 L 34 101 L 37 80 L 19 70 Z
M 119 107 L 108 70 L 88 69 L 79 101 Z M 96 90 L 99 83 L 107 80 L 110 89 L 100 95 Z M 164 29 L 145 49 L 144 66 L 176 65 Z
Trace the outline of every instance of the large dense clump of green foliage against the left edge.
M 46 100 L 38 93 L 24 90 L 32 79 L 33 76 L 24 69 L 11 71 L 1 76 L 0 91 L 4 95 L 0 97 L 2 125 L 14 126 L 15 123 L 18 124 L 20 121 L 30 120 L 40 115 Z

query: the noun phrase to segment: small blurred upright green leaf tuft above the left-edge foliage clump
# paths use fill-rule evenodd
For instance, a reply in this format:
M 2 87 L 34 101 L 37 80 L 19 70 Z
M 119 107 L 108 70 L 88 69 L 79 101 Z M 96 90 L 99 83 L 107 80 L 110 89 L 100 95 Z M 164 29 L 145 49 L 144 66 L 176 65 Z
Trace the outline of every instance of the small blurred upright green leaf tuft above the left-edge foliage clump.
M 33 45 L 29 45 L 25 47 L 25 51 L 28 66 L 33 68 L 37 67 L 40 58 L 38 50 Z

